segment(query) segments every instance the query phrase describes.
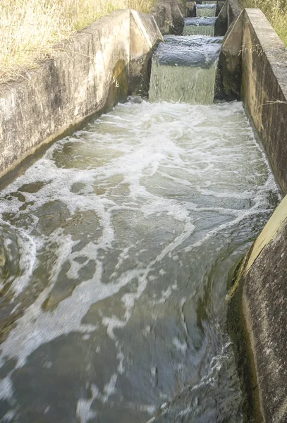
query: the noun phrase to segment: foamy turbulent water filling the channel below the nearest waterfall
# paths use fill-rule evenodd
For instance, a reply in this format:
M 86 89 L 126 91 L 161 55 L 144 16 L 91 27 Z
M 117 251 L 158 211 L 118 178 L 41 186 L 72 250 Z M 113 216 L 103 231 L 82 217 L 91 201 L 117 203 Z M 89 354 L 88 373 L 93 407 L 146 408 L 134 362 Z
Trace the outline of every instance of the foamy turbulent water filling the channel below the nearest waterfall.
M 241 422 L 226 284 L 277 200 L 240 103 L 56 142 L 1 192 L 1 422 Z

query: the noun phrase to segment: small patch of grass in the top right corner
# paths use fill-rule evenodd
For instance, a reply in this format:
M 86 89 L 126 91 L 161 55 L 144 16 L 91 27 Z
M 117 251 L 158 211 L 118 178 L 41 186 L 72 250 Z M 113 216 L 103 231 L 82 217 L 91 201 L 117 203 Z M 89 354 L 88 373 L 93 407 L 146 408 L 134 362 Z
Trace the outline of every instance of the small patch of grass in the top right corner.
M 261 8 L 271 25 L 287 46 L 287 1 L 286 0 L 240 0 L 240 6 Z

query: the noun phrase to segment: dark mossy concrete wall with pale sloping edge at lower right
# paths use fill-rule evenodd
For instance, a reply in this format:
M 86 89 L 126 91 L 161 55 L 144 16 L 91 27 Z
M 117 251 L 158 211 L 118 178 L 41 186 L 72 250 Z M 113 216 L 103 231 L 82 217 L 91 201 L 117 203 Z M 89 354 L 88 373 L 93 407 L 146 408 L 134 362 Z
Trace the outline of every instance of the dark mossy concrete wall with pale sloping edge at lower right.
M 241 349 L 241 374 L 245 355 L 244 376 L 248 372 L 253 376 L 245 379 L 249 384 L 245 422 L 287 422 L 286 243 L 287 197 L 245 257 L 231 295 L 228 318 Z M 238 331 L 242 324 L 244 330 Z

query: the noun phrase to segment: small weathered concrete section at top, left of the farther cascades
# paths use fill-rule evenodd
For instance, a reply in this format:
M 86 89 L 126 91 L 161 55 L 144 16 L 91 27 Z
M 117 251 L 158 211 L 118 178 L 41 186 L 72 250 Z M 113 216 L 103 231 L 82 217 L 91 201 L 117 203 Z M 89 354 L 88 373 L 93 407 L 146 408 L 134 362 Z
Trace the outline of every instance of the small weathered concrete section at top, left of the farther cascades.
M 159 0 L 152 9 L 152 15 L 161 34 L 182 35 L 185 8 L 181 0 Z

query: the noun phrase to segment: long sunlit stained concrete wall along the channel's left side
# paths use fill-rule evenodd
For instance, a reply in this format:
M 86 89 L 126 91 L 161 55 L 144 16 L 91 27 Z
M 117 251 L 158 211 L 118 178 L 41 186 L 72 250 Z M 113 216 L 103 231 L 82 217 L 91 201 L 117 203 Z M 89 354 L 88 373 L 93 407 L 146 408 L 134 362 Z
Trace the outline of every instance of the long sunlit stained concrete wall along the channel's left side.
M 152 16 L 117 11 L 61 44 L 56 59 L 0 85 L 0 176 L 71 125 L 126 99 L 159 39 Z

